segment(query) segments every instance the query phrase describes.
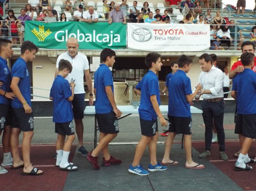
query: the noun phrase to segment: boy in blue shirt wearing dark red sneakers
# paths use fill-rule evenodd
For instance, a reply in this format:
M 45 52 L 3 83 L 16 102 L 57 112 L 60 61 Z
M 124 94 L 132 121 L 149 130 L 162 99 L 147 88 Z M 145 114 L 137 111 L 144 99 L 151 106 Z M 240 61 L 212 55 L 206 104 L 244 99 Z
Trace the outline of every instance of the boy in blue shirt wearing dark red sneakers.
M 115 51 L 104 48 L 100 54 L 102 64 L 95 72 L 94 95 L 96 97 L 95 110 L 99 125 L 99 144 L 89 152 L 86 159 L 92 164 L 95 170 L 99 170 L 98 155 L 102 151 L 102 166 L 121 164 L 121 160 L 115 159 L 108 152 L 108 143 L 119 133 L 117 117 L 121 116 L 121 111 L 117 108 L 114 100 L 114 84 L 112 73 L 109 67 L 115 63 Z

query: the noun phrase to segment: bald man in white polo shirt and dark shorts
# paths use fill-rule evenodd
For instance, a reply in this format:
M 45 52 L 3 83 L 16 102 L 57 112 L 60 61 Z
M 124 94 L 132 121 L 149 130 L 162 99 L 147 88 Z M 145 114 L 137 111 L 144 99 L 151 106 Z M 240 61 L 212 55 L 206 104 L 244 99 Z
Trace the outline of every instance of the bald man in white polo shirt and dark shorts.
M 56 62 L 56 75 L 59 72 L 59 61 L 61 59 L 68 60 L 72 66 L 72 72 L 65 78 L 70 83 L 71 79 L 76 81 L 76 87 L 74 88 L 74 99 L 72 101 L 73 105 L 73 113 L 74 113 L 74 121 L 76 125 L 77 138 L 79 142 L 78 152 L 81 155 L 86 155 L 88 151 L 86 151 L 83 146 L 83 110 L 84 106 L 84 87 L 83 87 L 83 75 L 85 75 L 86 84 L 89 90 L 89 105 L 93 105 L 93 85 L 92 78 L 89 72 L 89 62 L 85 55 L 77 52 L 79 47 L 77 39 L 71 37 L 67 41 L 68 51 L 59 55 Z

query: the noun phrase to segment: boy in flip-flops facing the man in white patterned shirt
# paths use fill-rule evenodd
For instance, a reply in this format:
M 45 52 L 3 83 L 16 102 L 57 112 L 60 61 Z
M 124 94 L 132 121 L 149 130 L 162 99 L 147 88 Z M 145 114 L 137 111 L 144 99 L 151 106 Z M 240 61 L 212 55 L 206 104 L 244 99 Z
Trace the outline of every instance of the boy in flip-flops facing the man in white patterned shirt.
M 202 169 L 204 165 L 197 164 L 192 160 L 191 155 L 191 112 L 190 102 L 201 90 L 202 86 L 197 84 L 195 92 L 192 94 L 191 82 L 186 73 L 192 66 L 192 59 L 182 54 L 178 60 L 179 69 L 171 78 L 169 90 L 168 118 L 169 118 L 169 135 L 165 143 L 165 151 L 161 164 L 178 164 L 170 160 L 170 151 L 176 134 L 184 134 L 184 146 L 186 153 L 185 168 Z

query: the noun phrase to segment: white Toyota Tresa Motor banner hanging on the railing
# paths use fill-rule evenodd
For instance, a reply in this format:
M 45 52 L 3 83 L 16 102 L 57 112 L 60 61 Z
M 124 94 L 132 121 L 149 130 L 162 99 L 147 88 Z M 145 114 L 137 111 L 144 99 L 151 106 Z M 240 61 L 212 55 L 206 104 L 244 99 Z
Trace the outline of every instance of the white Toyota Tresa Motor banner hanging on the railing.
M 204 51 L 210 48 L 210 25 L 128 23 L 127 44 L 139 51 Z

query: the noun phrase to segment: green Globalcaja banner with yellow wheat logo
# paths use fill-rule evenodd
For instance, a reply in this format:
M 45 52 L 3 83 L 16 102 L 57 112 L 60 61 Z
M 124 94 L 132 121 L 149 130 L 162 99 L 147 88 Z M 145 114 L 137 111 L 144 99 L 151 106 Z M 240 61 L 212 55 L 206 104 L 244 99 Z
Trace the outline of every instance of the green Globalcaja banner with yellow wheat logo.
M 107 22 L 25 22 L 25 40 L 39 48 L 66 49 L 69 37 L 75 37 L 79 49 L 126 48 L 126 25 Z

